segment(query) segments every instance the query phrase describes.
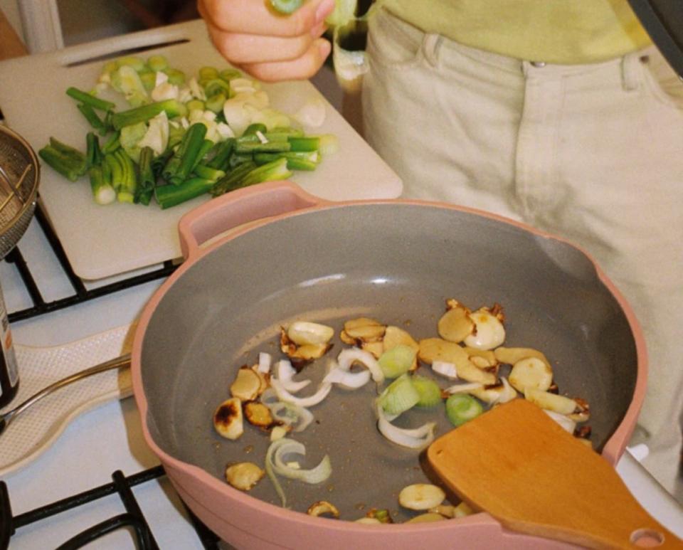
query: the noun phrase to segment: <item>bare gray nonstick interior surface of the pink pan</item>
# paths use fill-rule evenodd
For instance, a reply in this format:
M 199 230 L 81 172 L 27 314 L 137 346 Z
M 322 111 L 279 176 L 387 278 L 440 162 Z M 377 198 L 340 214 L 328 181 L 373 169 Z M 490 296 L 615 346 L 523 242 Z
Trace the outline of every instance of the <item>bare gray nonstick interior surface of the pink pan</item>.
M 501 304 L 505 345 L 548 356 L 560 392 L 590 403 L 591 439 L 602 448 L 630 405 L 637 356 L 625 314 L 591 260 L 571 245 L 502 221 L 406 203 L 278 219 L 223 243 L 183 273 L 159 303 L 142 344 L 152 437 L 170 455 L 220 479 L 229 462 L 263 467 L 267 434 L 247 425 L 239 440 L 224 440 L 211 416 L 228 398 L 236 369 L 257 362 L 259 351 L 280 358 L 281 325 L 304 319 L 339 334 L 344 320 L 370 316 L 415 339 L 435 337 L 448 297 L 472 309 Z M 329 356 L 344 345 L 335 337 Z M 299 377 L 319 381 L 325 365 L 319 360 Z M 288 506 L 305 511 L 327 499 L 344 519 L 371 507 L 401 519 L 398 491 L 425 477 L 418 453 L 376 430 L 375 395 L 373 383 L 357 391 L 335 387 L 311 408 L 315 423 L 292 438 L 307 445 L 302 467 L 329 454 L 332 477 L 314 486 L 283 482 Z M 428 420 L 438 420 L 437 435 L 451 429 L 443 408 L 410 411 L 396 423 Z M 267 479 L 250 494 L 280 504 Z

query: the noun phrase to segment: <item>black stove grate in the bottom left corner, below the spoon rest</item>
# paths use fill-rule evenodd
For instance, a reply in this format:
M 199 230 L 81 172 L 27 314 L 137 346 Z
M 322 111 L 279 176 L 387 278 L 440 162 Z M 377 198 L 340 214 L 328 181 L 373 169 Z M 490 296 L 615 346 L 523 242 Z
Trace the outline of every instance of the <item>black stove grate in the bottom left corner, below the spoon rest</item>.
M 149 468 L 134 475 L 125 476 L 123 472 L 117 470 L 112 474 L 112 482 L 105 485 L 100 485 L 85 492 L 80 492 L 77 495 L 58 500 L 51 504 L 46 504 L 43 507 L 33 509 L 23 514 L 14 516 L 12 514 L 11 502 L 9 499 L 9 492 L 5 482 L 0 481 L 0 550 L 6 550 L 9 547 L 11 537 L 28 524 L 38 522 L 41 519 L 53 517 L 61 512 L 79 507 L 83 504 L 88 504 L 107 495 L 117 493 L 125 508 L 125 513 L 118 514 L 110 519 L 106 519 L 99 524 L 93 525 L 85 531 L 76 534 L 68 541 L 65 541 L 57 550 L 75 550 L 83 548 L 86 544 L 99 539 L 101 536 L 108 534 L 115 529 L 130 528 L 136 548 L 140 550 L 158 550 L 159 546 L 154 539 L 152 530 L 149 529 L 147 520 L 137 503 L 132 487 L 140 485 L 150 480 L 155 480 L 165 475 L 162 466 Z M 191 517 L 194 529 L 197 533 L 201 544 L 206 550 L 218 550 L 220 547 L 218 543 L 220 539 L 213 534 L 194 514 L 187 510 Z

